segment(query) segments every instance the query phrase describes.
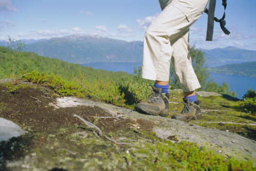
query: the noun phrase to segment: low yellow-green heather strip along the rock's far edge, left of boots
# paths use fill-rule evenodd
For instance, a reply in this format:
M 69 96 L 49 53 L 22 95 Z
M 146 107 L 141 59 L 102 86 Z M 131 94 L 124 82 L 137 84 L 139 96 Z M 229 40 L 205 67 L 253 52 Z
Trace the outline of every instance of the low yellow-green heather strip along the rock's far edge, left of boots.
M 60 95 L 86 96 L 116 106 L 124 106 L 125 103 L 124 95 L 120 93 L 118 86 L 110 78 L 103 80 L 99 77 L 93 82 L 89 82 L 84 75 L 80 74 L 73 81 L 67 81 L 58 75 L 46 75 L 44 72 L 32 71 L 23 79 L 36 84 L 48 85 Z

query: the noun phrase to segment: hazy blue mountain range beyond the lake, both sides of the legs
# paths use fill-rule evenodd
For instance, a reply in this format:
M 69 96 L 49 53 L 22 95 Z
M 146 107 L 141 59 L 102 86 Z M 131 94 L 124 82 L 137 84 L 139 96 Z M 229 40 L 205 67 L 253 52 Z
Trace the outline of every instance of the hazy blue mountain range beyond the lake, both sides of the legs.
M 71 35 L 60 38 L 22 40 L 25 51 L 40 56 L 56 58 L 70 63 L 89 62 L 140 62 L 143 55 L 143 42 L 111 39 L 96 35 Z M 0 45 L 4 42 L 0 41 Z M 256 61 L 256 51 L 238 47 L 202 50 L 206 63 L 224 61 Z

